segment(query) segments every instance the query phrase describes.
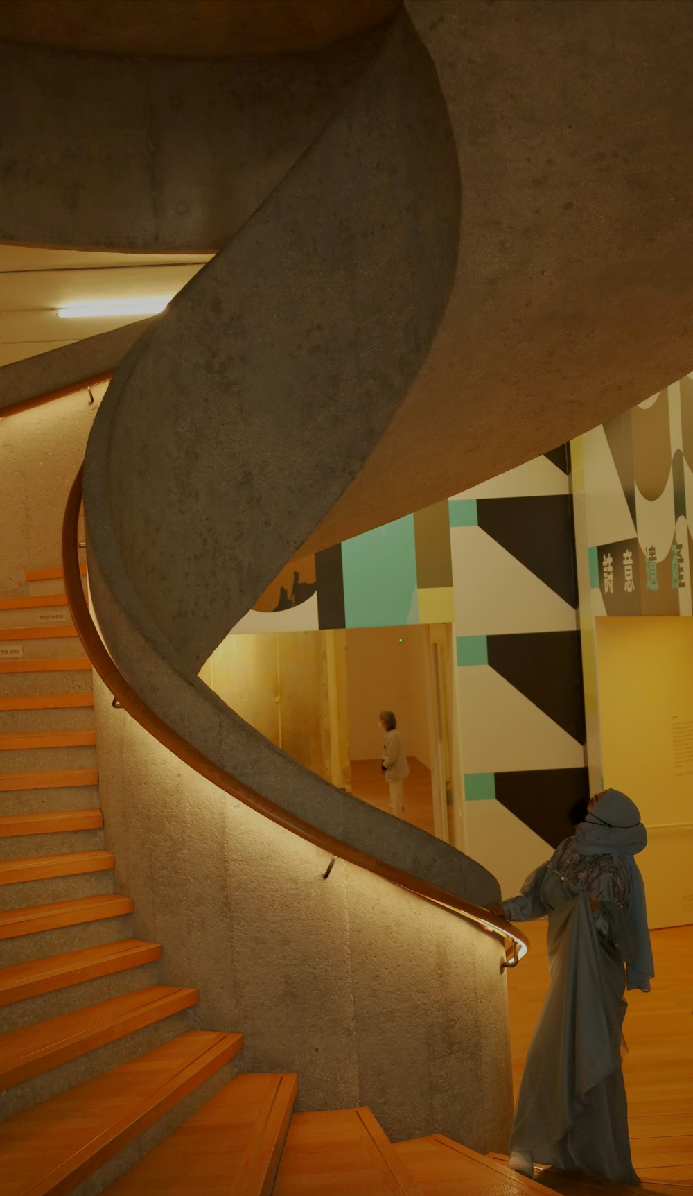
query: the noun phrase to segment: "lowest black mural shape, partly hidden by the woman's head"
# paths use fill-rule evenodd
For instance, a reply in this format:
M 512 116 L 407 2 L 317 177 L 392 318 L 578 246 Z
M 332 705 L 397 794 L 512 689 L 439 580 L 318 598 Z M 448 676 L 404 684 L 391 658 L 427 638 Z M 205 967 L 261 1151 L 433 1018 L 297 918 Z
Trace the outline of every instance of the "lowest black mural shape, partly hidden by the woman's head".
M 589 797 L 587 768 L 496 773 L 496 800 L 551 847 L 558 847 L 574 834 L 568 811 L 585 795 Z

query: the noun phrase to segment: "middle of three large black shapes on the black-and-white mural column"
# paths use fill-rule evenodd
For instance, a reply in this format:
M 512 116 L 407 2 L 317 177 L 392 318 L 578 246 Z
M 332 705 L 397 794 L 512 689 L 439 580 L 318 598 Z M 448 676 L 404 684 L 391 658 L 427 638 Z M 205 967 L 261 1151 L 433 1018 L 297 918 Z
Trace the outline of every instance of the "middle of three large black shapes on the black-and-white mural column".
M 584 744 L 579 631 L 489 635 L 486 643 L 491 669 Z

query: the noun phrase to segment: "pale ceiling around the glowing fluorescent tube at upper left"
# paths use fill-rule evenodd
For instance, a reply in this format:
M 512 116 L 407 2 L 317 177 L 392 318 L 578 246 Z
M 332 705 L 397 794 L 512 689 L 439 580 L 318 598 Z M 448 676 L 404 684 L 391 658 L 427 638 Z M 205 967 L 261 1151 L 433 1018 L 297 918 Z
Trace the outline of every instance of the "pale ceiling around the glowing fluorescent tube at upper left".
M 80 301 L 170 298 L 208 260 L 0 245 L 0 366 L 139 318 L 65 321 L 56 315 L 57 307 Z

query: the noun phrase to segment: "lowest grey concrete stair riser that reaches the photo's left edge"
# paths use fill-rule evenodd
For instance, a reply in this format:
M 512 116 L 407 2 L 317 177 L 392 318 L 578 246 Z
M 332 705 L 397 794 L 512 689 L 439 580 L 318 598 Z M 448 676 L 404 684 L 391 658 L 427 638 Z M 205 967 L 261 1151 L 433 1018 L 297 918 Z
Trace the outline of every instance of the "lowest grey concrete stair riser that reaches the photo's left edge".
M 154 1046 L 160 1046 L 171 1038 L 176 1038 L 177 1035 L 194 1029 L 192 1011 L 184 1009 L 170 1018 L 164 1018 L 161 1021 L 155 1021 L 151 1026 L 143 1026 L 142 1030 L 135 1030 L 134 1033 L 117 1038 L 112 1043 L 106 1043 L 105 1046 L 86 1051 L 68 1063 L 33 1075 L 24 1084 L 17 1084 L 0 1094 L 2 1116 L 11 1117 L 12 1113 L 22 1112 L 23 1109 L 30 1109 L 39 1100 L 48 1100 L 49 1097 L 65 1092 L 76 1084 L 92 1080 L 103 1072 L 108 1072 L 109 1068 L 117 1067 L 118 1063 L 127 1063 L 137 1055 L 143 1055 L 145 1051 L 153 1050 Z

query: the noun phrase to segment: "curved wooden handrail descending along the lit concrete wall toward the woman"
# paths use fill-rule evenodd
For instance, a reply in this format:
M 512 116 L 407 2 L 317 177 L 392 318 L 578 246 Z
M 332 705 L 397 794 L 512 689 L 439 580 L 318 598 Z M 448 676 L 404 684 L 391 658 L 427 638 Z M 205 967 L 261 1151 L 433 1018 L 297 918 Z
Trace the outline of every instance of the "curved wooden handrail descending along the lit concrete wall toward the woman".
M 427 880 L 419 880 L 417 877 L 411 877 L 407 872 L 394 868 L 392 865 L 386 864 L 384 860 L 379 860 L 374 855 L 367 855 L 364 852 L 360 852 L 349 843 L 344 843 L 342 840 L 335 838 L 332 835 L 327 835 L 325 831 L 303 822 L 290 811 L 275 805 L 274 801 L 269 801 L 268 798 L 264 798 L 260 793 L 251 789 L 244 781 L 239 781 L 237 777 L 232 776 L 225 769 L 220 768 L 219 764 L 215 764 L 214 761 L 209 759 L 208 756 L 204 756 L 203 752 L 198 751 L 197 748 L 189 744 L 186 739 L 179 736 L 178 732 L 173 731 L 166 722 L 164 722 L 162 719 L 159 718 L 158 714 L 151 710 L 149 707 L 142 702 L 141 697 L 128 684 L 111 659 L 110 653 L 96 628 L 85 598 L 78 556 L 78 523 L 81 501 L 82 468 L 80 468 L 69 492 L 62 525 L 65 593 L 74 627 L 84 645 L 87 657 L 104 684 L 119 702 L 123 709 L 125 709 L 128 714 L 130 714 L 140 724 L 140 726 L 145 728 L 145 731 L 148 731 L 154 739 L 158 739 L 160 744 L 164 744 L 168 751 L 173 752 L 174 756 L 178 756 L 178 758 L 185 764 L 189 764 L 196 773 L 207 777 L 208 781 L 211 781 L 213 785 L 216 785 L 220 789 L 231 794 L 232 798 L 235 798 L 238 801 L 243 801 L 244 805 L 250 806 L 251 810 L 256 810 L 258 813 L 263 814 L 263 817 L 269 818 L 271 822 L 276 823 L 277 826 L 283 826 L 286 830 L 290 830 L 294 835 L 299 835 L 300 838 L 305 838 L 306 842 L 314 843 L 315 847 L 321 848 L 329 855 L 335 855 L 341 860 L 348 860 L 350 864 L 355 864 L 360 868 L 364 868 L 367 872 L 373 872 L 375 875 L 382 877 L 385 880 L 390 880 L 392 884 L 398 885 L 399 889 L 405 889 L 407 892 L 416 893 L 417 897 L 423 897 L 424 901 L 428 901 L 434 905 L 440 905 L 442 909 L 447 909 L 460 917 L 476 922 L 478 926 L 483 926 L 486 930 L 499 934 L 507 941 L 505 960 L 501 964 L 501 966 L 514 968 L 520 962 L 522 956 L 527 953 L 529 944 L 525 935 L 515 926 L 511 926 L 510 922 L 491 914 L 490 910 L 485 909 L 483 905 L 476 905 L 473 902 L 465 901 L 455 893 L 446 892 L 444 889 L 439 889 L 436 885 L 431 885 Z

